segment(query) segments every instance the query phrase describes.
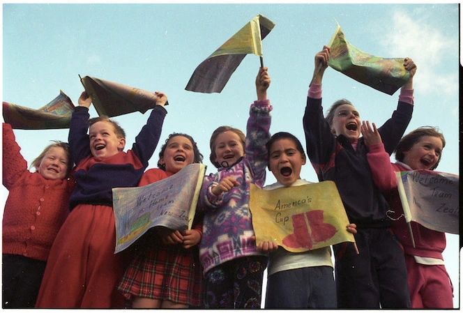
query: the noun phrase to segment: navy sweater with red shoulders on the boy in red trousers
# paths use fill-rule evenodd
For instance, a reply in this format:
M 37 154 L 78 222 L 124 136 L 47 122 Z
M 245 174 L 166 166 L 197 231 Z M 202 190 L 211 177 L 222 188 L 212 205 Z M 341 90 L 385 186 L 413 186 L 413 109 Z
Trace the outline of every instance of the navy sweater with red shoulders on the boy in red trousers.
M 166 114 L 164 107 L 156 105 L 131 150 L 109 158 L 95 158 L 87 135 L 89 109 L 76 107 L 68 137 L 70 153 L 77 165 L 74 174 L 77 185 L 70 197 L 70 209 L 77 204 L 112 206 L 112 188 L 137 186 L 158 146 Z

